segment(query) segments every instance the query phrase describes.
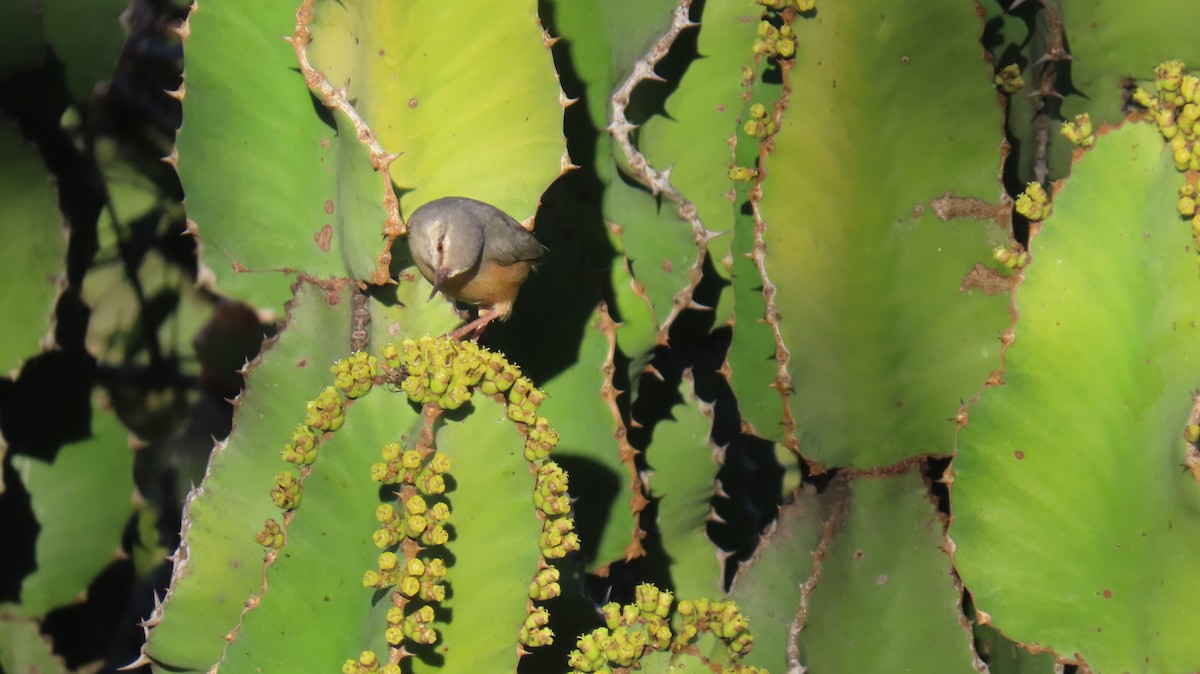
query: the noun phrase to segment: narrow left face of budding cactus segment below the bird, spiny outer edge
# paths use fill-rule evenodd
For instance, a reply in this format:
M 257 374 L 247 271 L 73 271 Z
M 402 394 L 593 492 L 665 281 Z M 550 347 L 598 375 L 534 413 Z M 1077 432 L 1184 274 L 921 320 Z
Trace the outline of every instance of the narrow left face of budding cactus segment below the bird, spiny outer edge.
M 188 499 L 172 588 L 146 654 L 163 666 L 206 670 L 242 603 L 262 586 L 263 548 L 253 534 L 278 508 L 268 494 L 278 447 L 302 421 L 305 404 L 331 381 L 329 365 L 350 341 L 348 291 L 301 282 L 287 326 L 250 368 L 234 431 L 217 445 Z

